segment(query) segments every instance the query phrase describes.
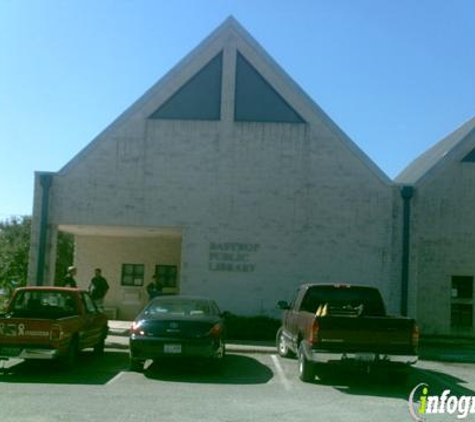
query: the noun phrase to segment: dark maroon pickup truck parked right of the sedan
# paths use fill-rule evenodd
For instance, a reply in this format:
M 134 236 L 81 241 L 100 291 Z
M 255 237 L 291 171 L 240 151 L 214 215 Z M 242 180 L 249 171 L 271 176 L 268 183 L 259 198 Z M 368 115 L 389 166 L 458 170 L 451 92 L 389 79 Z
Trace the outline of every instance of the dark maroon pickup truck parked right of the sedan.
M 389 367 L 401 381 L 417 362 L 419 331 L 413 319 L 386 314 L 378 289 L 346 284 L 304 284 L 291 304 L 280 301 L 281 356 L 296 354 L 302 381 L 322 376 L 327 364 Z

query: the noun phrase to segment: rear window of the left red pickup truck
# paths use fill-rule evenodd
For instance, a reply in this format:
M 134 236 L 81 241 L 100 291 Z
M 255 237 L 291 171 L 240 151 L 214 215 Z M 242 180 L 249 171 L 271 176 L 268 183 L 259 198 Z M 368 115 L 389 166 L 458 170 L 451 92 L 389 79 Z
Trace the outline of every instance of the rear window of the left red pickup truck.
M 56 291 L 21 291 L 14 298 L 11 312 L 36 318 L 63 318 L 78 313 L 71 293 Z

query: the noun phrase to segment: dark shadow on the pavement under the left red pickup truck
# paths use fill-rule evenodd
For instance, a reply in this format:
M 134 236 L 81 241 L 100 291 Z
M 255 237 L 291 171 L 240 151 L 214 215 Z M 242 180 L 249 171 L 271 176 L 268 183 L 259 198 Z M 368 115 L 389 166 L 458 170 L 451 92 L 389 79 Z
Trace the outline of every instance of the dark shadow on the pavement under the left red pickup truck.
M 0 368 L 0 383 L 103 385 L 128 364 L 129 356 L 124 352 L 106 351 L 96 356 L 92 351 L 83 351 L 73 368 L 55 361 L 17 361 L 13 365 L 9 362 Z

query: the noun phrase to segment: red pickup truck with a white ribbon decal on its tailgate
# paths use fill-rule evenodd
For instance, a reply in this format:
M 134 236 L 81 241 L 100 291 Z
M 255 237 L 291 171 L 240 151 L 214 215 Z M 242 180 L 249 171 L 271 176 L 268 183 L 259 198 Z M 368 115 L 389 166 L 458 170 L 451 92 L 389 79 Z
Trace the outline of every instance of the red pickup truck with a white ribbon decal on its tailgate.
M 82 349 L 102 353 L 107 332 L 107 316 L 86 291 L 23 287 L 0 315 L 0 360 L 59 359 L 73 365 Z

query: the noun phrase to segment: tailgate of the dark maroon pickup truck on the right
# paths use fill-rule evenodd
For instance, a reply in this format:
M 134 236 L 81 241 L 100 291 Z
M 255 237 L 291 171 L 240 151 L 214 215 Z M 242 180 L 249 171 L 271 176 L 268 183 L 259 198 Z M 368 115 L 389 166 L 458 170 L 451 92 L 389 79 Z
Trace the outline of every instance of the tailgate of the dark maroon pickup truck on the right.
M 313 348 L 328 351 L 406 354 L 414 352 L 414 321 L 393 317 L 319 317 Z

